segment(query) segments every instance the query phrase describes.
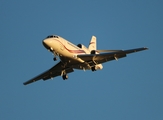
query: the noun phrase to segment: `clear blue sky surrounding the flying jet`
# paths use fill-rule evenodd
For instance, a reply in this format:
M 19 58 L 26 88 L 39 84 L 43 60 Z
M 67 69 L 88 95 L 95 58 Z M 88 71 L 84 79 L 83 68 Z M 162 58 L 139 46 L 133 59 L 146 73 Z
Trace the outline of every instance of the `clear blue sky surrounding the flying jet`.
M 0 119 L 163 120 L 162 0 L 2 0 Z M 57 62 L 42 45 L 50 34 L 98 49 L 149 50 L 24 86 Z

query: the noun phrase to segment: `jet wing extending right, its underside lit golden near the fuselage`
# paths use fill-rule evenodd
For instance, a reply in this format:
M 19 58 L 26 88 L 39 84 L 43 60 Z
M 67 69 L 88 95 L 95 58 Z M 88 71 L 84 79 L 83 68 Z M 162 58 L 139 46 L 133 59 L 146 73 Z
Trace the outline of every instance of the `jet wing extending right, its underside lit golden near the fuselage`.
M 130 50 L 100 50 L 100 52 L 106 52 L 106 51 L 112 51 L 112 52 L 100 53 L 100 54 L 77 55 L 77 57 L 86 61 L 90 66 L 92 66 L 95 64 L 101 64 L 111 60 L 117 60 L 119 58 L 126 57 L 126 54 L 139 52 L 146 49 L 148 48 L 136 48 Z

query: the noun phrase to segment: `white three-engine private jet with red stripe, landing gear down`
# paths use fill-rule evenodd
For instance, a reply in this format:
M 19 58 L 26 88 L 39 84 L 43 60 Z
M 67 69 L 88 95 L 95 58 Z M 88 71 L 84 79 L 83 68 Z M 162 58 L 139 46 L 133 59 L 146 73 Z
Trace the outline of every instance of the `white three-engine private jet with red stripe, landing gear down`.
M 58 36 L 49 35 L 43 41 L 43 46 L 54 54 L 53 60 L 60 61 L 49 70 L 42 74 L 24 82 L 24 85 L 33 83 L 43 79 L 53 79 L 57 76 L 62 76 L 63 80 L 68 79 L 68 73 L 78 70 L 92 70 L 97 71 L 103 68 L 102 63 L 118 60 L 126 57 L 127 54 L 147 50 L 148 48 L 135 48 L 129 50 L 97 50 L 96 37 L 92 36 L 88 48 L 83 44 L 74 45 L 68 40 Z

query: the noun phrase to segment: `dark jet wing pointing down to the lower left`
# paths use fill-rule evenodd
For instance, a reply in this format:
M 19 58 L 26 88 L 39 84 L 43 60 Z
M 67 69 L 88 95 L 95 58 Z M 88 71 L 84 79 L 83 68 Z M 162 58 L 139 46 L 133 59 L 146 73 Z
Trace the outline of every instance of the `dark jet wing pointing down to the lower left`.
M 45 71 L 44 73 L 34 77 L 33 79 L 30 79 L 30 80 L 24 82 L 23 84 L 27 85 L 27 84 L 36 82 L 36 81 L 41 80 L 41 79 L 48 80 L 50 78 L 60 76 L 62 74 L 63 70 L 65 70 L 66 73 L 70 73 L 70 72 L 74 71 L 72 68 L 65 67 L 62 62 L 59 62 L 58 64 L 53 66 L 51 69 L 49 69 L 49 70 Z

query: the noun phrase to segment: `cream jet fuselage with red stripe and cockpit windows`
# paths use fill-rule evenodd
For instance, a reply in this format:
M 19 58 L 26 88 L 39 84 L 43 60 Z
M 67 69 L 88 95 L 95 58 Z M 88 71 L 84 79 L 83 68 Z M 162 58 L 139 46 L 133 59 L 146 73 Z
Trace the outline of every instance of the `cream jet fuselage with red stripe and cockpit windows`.
M 53 52 L 54 55 L 59 56 L 63 63 L 70 65 L 75 69 L 91 69 L 90 66 L 84 64 L 85 61 L 76 57 L 79 54 L 90 54 L 90 51 L 85 46 L 80 48 L 56 35 L 50 35 L 45 38 L 43 40 L 43 45 Z M 79 66 L 78 63 L 83 63 L 83 65 Z

